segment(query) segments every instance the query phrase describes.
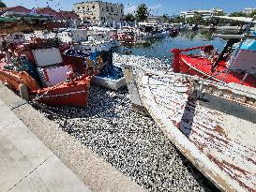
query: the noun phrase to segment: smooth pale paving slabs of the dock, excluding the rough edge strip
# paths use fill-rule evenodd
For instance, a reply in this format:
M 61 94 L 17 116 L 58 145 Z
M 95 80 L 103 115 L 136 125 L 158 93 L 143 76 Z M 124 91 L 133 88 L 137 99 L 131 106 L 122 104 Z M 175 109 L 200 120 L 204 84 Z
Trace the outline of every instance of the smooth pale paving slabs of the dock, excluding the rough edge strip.
M 90 191 L 1 99 L 0 191 Z

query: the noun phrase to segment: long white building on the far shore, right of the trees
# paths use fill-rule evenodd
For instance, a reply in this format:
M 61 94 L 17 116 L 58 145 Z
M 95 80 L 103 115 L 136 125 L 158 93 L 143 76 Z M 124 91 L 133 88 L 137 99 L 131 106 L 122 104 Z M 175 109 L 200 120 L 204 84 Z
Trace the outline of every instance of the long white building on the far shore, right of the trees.
M 184 17 L 185 19 L 192 18 L 197 14 L 201 14 L 203 16 L 203 20 L 208 20 L 214 15 L 223 14 L 224 10 L 222 8 L 212 8 L 209 10 L 188 10 L 188 11 L 181 11 L 180 17 Z

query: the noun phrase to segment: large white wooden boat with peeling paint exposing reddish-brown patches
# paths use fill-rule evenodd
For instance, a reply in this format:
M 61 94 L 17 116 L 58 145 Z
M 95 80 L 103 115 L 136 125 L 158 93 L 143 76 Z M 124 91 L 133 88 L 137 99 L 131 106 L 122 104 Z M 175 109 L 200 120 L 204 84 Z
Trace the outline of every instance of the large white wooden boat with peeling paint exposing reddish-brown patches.
M 175 146 L 223 191 L 256 189 L 256 91 L 143 72 L 139 97 Z

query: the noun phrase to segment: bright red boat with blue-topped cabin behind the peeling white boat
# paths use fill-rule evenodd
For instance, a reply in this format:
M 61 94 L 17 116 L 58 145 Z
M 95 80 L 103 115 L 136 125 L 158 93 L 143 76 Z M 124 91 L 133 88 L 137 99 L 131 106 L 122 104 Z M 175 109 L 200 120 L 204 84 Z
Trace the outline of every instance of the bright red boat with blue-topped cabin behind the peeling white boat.
M 197 75 L 213 81 L 256 87 L 256 41 L 253 38 L 255 35 L 251 36 L 251 39 L 246 37 L 241 41 L 239 38 L 231 38 L 219 55 L 211 45 L 173 49 L 173 71 Z M 234 49 L 235 43 L 239 43 L 236 49 Z M 203 52 L 203 55 L 182 53 L 196 50 Z

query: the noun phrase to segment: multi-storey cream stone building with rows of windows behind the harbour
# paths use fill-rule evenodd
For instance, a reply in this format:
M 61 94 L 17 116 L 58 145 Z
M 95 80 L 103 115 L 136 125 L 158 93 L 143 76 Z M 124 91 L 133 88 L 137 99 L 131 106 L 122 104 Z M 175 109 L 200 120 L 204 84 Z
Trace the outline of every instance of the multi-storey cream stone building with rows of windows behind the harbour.
M 75 4 L 75 13 L 84 22 L 94 25 L 117 27 L 122 25 L 124 6 L 103 1 L 87 1 Z

